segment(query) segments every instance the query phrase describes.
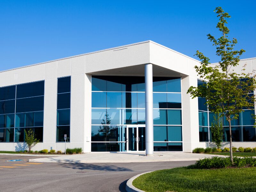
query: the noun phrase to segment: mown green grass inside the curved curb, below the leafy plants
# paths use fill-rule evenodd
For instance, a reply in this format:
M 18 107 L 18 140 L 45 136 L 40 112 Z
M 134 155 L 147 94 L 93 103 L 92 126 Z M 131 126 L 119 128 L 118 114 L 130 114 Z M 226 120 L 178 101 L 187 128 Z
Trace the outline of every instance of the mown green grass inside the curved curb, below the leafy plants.
M 141 175 L 132 184 L 146 192 L 247 192 L 256 191 L 256 167 L 189 169 L 179 167 Z

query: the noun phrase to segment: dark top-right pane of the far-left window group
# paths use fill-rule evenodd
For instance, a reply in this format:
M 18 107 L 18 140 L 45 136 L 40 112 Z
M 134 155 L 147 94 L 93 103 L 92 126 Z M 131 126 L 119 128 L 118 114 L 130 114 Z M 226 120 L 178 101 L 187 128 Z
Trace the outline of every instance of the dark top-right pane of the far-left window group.
M 44 95 L 44 81 L 17 85 L 17 99 L 40 95 Z

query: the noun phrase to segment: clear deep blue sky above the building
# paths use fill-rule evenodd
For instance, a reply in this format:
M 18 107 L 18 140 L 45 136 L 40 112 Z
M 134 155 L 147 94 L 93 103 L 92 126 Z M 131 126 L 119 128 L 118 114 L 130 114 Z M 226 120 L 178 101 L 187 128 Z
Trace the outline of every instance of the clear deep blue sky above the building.
M 256 1 L 0 1 L 0 71 L 152 40 L 218 62 L 214 8 L 231 15 L 229 37 L 256 57 Z

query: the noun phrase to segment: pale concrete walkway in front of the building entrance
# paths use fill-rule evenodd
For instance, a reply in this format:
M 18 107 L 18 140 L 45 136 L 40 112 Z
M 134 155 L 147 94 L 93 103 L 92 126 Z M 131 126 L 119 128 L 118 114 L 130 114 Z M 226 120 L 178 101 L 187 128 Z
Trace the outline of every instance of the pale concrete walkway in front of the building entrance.
M 160 161 L 195 161 L 200 158 L 220 156 L 182 152 L 155 153 L 155 156 L 145 156 L 145 153 L 85 153 L 77 155 L 62 155 L 58 157 L 29 159 L 29 162 L 45 163 L 132 163 Z M 222 156 L 225 157 L 225 156 Z

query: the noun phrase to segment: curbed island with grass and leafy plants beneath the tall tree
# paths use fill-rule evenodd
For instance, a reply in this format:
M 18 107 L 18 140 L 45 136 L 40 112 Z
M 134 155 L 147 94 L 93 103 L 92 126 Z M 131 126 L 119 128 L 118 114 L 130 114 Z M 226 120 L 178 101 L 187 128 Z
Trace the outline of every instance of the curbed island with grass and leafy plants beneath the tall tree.
M 132 185 L 146 192 L 247 192 L 256 191 L 256 158 L 212 157 L 188 167 L 143 174 Z M 223 168 L 224 167 L 224 168 Z

